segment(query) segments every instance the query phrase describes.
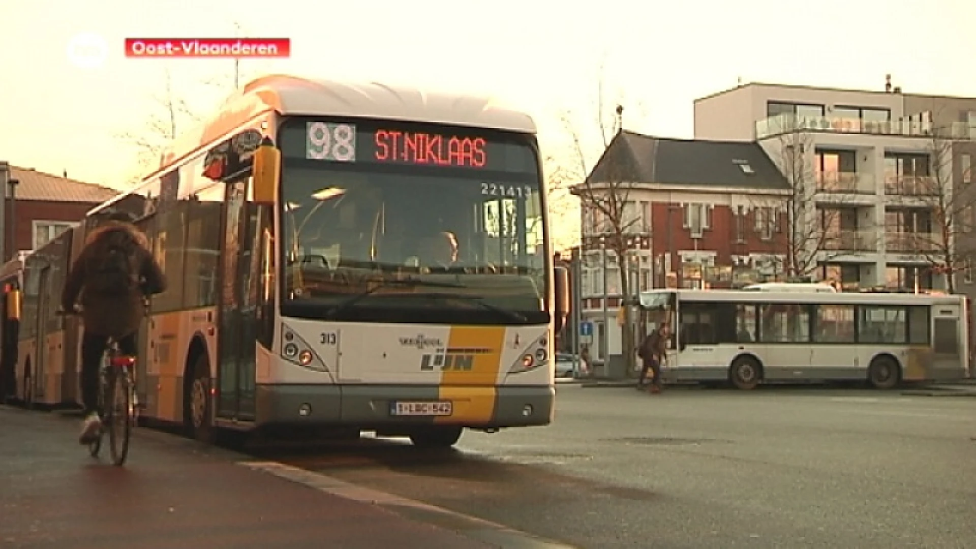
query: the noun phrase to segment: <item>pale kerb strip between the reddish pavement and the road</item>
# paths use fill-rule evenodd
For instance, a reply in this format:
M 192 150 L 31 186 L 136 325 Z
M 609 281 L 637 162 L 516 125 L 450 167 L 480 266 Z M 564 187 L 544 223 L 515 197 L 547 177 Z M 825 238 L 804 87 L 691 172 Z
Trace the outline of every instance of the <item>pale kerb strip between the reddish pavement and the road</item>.
M 351 499 L 360 503 L 367 503 L 370 505 L 381 505 L 386 507 L 403 507 L 406 509 L 413 509 L 419 511 L 426 511 L 427 513 L 440 515 L 445 518 L 451 518 L 466 522 L 471 525 L 471 528 L 457 529 L 455 527 L 441 527 L 455 529 L 463 535 L 481 540 L 491 540 L 491 542 L 503 541 L 503 547 L 538 547 L 539 549 L 575 549 L 572 545 L 567 545 L 565 543 L 560 543 L 557 541 L 551 541 L 548 539 L 541 538 L 536 535 L 532 535 L 528 532 L 508 528 L 506 526 L 500 525 L 498 523 L 493 523 L 491 521 L 485 521 L 477 517 L 472 517 L 470 515 L 465 515 L 463 513 L 457 513 L 449 509 L 444 509 L 443 507 L 437 507 L 435 505 L 429 505 L 423 501 L 417 501 L 415 499 L 409 499 L 406 497 L 400 497 L 398 495 L 387 493 L 385 491 L 376 490 L 373 488 L 368 488 L 366 486 L 358 486 L 345 481 L 340 481 L 335 477 L 330 477 L 328 475 L 323 475 L 321 473 L 314 473 L 312 471 L 305 471 L 305 469 L 300 469 L 298 467 L 293 467 L 291 465 L 286 465 L 284 463 L 279 463 L 277 461 L 242 461 L 238 465 L 243 465 L 257 471 L 263 471 L 274 475 L 276 477 L 291 481 L 293 483 L 298 483 L 300 485 L 305 485 L 311 488 L 315 488 L 326 493 L 331 493 L 333 495 L 338 495 L 340 497 L 345 497 L 346 499 Z M 410 520 L 408 517 L 404 517 Z M 434 524 L 434 526 L 439 526 Z M 488 530 L 488 531 L 485 531 Z

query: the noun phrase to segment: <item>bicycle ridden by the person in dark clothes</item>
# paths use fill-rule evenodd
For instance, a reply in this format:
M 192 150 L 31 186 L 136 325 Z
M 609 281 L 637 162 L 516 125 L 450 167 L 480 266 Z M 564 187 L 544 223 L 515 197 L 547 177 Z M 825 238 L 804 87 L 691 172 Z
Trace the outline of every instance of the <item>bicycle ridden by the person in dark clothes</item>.
M 80 313 L 59 311 L 59 314 L 77 316 Z M 98 408 L 101 410 L 102 427 L 95 441 L 88 444 L 88 451 L 92 457 L 99 456 L 107 426 L 112 463 L 117 466 L 125 464 L 132 430 L 139 420 L 135 369 L 136 357 L 124 355 L 115 338 L 108 338 L 102 364 L 99 366 Z M 111 402 L 111 405 L 105 406 L 105 402 Z

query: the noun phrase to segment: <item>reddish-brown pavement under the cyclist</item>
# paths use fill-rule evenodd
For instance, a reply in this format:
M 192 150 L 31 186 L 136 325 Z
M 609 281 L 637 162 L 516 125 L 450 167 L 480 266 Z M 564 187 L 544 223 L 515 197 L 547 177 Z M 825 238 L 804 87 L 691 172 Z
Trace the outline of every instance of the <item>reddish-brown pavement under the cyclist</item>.
M 0 547 L 498 546 L 284 480 L 244 456 L 141 429 L 122 468 L 76 420 L 0 405 Z M 108 454 L 107 439 L 102 447 Z

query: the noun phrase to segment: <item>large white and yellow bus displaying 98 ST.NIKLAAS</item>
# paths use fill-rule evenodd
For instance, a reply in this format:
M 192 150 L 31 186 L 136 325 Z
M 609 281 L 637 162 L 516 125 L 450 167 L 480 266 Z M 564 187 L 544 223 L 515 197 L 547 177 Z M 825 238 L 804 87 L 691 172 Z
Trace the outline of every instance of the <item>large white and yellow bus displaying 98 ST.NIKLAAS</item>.
M 547 425 L 567 274 L 532 118 L 464 95 L 274 75 L 133 190 L 169 282 L 140 335 L 141 416 L 450 446 Z M 60 292 L 60 289 L 58 290 Z

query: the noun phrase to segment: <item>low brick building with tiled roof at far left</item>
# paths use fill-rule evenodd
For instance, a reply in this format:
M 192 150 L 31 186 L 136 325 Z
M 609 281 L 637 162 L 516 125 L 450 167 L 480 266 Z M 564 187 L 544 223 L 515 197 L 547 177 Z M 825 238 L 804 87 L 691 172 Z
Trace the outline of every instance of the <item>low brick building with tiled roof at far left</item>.
M 10 179 L 19 184 L 13 195 L 7 193 L 3 234 L 8 258 L 43 246 L 77 224 L 90 209 L 118 194 L 117 190 L 17 166 L 10 166 Z

